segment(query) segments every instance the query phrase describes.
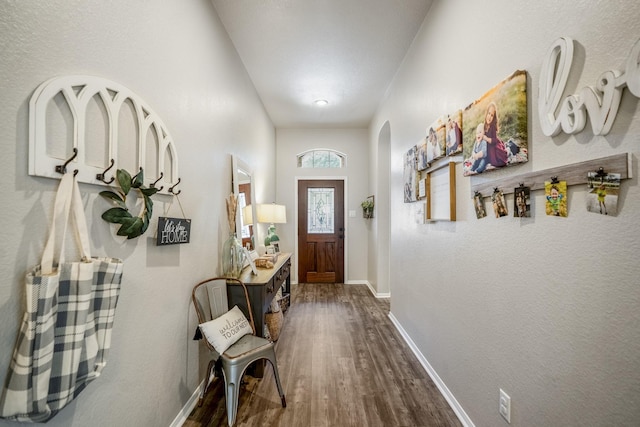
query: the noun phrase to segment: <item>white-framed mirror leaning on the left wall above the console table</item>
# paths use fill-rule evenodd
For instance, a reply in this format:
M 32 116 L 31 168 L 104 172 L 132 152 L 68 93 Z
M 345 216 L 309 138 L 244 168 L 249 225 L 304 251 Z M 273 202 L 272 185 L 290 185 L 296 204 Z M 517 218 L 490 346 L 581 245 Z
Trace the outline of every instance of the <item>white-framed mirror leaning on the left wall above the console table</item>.
M 233 168 L 233 193 L 238 197 L 238 210 L 236 217 L 236 235 L 242 240 L 242 246 L 255 250 L 255 242 L 258 241 L 257 227 L 254 226 L 256 218 L 256 201 L 253 188 L 253 174 L 249 167 L 236 156 L 231 156 Z

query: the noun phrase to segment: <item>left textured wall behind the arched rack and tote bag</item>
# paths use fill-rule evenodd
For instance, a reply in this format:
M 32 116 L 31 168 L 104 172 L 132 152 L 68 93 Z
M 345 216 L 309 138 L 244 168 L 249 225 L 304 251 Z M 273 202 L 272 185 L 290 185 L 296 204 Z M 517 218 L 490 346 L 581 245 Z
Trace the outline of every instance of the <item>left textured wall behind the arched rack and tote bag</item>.
M 105 77 L 136 92 L 171 132 L 192 239 L 155 246 L 153 229 L 170 200 L 157 196 L 150 230 L 123 241 L 100 219 L 104 188 L 81 185 L 93 253 L 124 260 L 122 292 L 102 376 L 48 425 L 169 425 L 201 381 L 190 294 L 218 271 L 230 154 L 254 168 L 256 197 L 273 198 L 273 125 L 209 1 L 2 1 L 0 46 L 0 382 L 58 183 L 27 175 L 29 97 L 54 76 Z M 180 215 L 177 203 L 170 214 Z

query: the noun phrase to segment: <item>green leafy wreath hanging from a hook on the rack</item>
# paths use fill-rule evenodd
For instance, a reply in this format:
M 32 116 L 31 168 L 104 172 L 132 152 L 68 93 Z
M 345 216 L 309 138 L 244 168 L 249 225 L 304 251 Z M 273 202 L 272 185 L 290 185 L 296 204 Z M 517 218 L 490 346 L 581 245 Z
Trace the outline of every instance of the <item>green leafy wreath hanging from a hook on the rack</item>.
M 116 172 L 116 180 L 120 186 L 120 190 L 113 191 L 101 191 L 100 195 L 110 202 L 114 203 L 116 207 L 108 209 L 102 214 L 102 219 L 112 224 L 121 224 L 118 232 L 118 236 L 127 236 L 127 239 L 134 239 L 141 236 L 147 228 L 149 228 L 149 221 L 151 220 L 151 214 L 153 213 L 153 201 L 151 196 L 158 192 L 157 188 L 146 188 L 144 185 L 144 174 L 142 168 L 136 175 L 131 176 L 129 172 L 124 169 L 118 169 Z M 131 189 L 136 189 L 144 200 L 144 208 L 138 216 L 133 216 L 127 208 L 127 195 Z

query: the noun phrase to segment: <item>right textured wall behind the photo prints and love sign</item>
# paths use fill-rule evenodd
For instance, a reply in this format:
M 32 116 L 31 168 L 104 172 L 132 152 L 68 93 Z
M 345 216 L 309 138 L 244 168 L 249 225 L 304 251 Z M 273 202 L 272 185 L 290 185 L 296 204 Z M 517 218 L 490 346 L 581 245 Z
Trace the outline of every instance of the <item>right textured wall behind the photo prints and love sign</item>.
M 631 0 L 435 1 L 371 125 L 372 146 L 386 121 L 391 129 L 392 313 L 477 426 L 506 425 L 499 388 L 511 396 L 514 426 L 638 425 L 638 180 L 623 182 L 617 217 L 586 212 L 576 186 L 568 218 L 546 216 L 537 191 L 529 220 L 477 220 L 458 165 L 458 221 L 417 225 L 403 203 L 402 156 L 436 117 L 524 69 L 530 161 L 487 179 L 626 152 L 637 177 L 637 98 L 623 95 L 607 136 L 587 127 L 550 138 L 537 88 L 561 36 L 577 41 L 566 94 L 624 70 L 639 18 Z

